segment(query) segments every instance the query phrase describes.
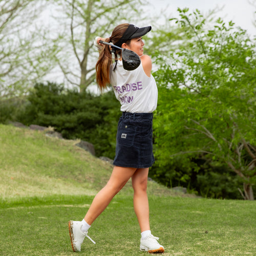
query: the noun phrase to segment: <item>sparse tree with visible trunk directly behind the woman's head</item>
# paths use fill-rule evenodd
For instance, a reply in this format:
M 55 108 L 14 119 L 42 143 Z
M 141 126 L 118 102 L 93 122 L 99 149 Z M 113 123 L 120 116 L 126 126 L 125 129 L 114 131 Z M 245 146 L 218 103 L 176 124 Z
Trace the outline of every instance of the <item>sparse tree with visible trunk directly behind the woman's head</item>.
M 59 33 L 61 52 L 56 56 L 58 65 L 69 84 L 84 91 L 95 80 L 98 53 L 93 46 L 96 36 L 110 36 L 119 23 L 136 22 L 143 15 L 137 0 L 56 0 L 65 10 L 56 17 L 63 26 Z M 145 1 L 144 1 L 145 3 Z M 133 18 L 132 18 L 133 17 Z M 63 24 L 64 23 L 64 24 Z M 61 42 L 62 41 L 62 42 Z

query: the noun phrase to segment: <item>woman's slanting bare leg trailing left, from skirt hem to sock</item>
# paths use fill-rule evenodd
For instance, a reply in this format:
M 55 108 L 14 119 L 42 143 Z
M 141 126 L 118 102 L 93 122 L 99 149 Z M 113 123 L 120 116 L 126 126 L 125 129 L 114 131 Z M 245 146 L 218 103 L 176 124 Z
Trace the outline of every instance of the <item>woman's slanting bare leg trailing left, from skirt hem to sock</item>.
M 126 182 L 134 175 L 136 168 L 115 166 L 108 183 L 99 191 L 84 217 L 91 225 L 101 212 L 109 205 L 113 197 L 122 189 Z

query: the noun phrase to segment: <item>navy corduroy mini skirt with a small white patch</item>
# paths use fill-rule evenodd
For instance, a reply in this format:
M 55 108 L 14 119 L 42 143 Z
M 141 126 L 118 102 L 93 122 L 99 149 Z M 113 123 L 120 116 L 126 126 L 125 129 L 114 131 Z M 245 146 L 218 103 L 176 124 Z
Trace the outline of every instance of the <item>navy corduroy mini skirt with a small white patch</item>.
M 114 165 L 134 168 L 153 165 L 152 123 L 152 113 L 122 113 L 118 122 Z

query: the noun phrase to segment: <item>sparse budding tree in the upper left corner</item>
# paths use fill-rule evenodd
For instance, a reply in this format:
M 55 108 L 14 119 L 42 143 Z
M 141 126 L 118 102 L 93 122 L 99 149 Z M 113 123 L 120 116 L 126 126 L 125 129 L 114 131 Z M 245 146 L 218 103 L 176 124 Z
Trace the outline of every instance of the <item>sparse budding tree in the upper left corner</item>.
M 36 26 L 44 1 L 2 0 L 0 2 L 0 93 L 13 97 L 25 93 L 48 73 L 47 61 L 56 48 L 44 40 Z

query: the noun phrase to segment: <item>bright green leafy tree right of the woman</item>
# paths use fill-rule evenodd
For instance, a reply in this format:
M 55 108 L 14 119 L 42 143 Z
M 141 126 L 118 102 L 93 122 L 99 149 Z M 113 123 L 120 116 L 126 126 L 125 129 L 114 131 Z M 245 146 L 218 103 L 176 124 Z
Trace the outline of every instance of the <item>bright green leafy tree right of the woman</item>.
M 169 54 L 155 76 L 160 83 L 155 120 L 156 157 L 162 165 L 191 157 L 224 163 L 243 180 L 253 200 L 256 181 L 256 52 L 246 31 L 214 26 L 196 10 L 179 9 L 178 26 L 190 36 Z

